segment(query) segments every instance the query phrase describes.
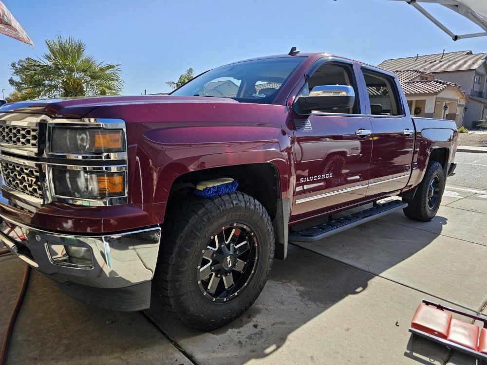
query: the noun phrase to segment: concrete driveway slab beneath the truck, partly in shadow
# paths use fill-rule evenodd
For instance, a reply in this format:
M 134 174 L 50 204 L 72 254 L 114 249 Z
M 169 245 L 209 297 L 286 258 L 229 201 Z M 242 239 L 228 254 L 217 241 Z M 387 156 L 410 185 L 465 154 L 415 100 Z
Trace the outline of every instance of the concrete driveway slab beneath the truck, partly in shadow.
M 254 306 L 210 333 L 157 306 L 115 313 L 75 302 L 32 272 L 8 364 L 475 364 L 408 328 L 424 298 L 487 316 L 486 219 L 487 191 L 449 185 L 431 222 L 397 212 L 291 245 Z M 23 270 L 0 258 L 0 335 Z

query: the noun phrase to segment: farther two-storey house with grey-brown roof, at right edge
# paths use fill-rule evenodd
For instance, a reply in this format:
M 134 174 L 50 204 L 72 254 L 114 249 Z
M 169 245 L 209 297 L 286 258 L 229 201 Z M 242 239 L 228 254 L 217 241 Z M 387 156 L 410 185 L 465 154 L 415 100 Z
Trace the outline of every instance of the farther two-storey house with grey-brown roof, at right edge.
M 466 127 L 472 127 L 476 121 L 487 119 L 486 57 L 487 53 L 474 54 L 472 51 L 458 51 L 388 59 L 379 67 L 393 72 L 416 70 L 425 73 L 423 77 L 431 74 L 436 80 L 459 85 L 466 91 L 469 99 L 462 118 L 463 124 Z M 440 100 L 441 102 L 442 100 Z M 462 124 L 462 119 L 459 119 L 460 124 Z

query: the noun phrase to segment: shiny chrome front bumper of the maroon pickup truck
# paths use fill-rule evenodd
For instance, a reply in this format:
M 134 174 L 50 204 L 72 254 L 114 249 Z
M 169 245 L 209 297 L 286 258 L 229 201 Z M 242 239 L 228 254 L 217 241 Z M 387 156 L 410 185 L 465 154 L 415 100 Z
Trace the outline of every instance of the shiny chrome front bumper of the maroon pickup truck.
M 160 238 L 158 226 L 106 236 L 78 236 L 47 232 L 0 215 L 0 241 L 10 251 L 56 281 L 89 287 L 125 288 L 150 281 Z M 67 254 L 81 249 L 85 249 L 83 260 Z

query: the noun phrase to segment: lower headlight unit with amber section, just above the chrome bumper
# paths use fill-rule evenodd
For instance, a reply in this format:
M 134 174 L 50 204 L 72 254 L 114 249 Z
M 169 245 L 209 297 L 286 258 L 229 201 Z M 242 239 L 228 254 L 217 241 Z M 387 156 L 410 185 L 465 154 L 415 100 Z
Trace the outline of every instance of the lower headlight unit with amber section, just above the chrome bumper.
M 85 171 L 53 168 L 57 196 L 104 199 L 125 196 L 125 172 Z

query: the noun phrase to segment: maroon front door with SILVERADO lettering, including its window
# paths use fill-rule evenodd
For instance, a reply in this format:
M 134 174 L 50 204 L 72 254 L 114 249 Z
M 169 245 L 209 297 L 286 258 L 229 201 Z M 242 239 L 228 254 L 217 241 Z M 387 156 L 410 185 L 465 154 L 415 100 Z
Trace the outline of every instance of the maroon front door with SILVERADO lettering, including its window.
M 352 63 L 329 59 L 312 69 L 298 94 L 315 86 L 348 85 L 354 108 L 293 113 L 296 186 L 292 219 L 311 217 L 365 199 L 372 154 L 371 123 L 362 110 Z M 298 99 L 296 98 L 296 100 Z

